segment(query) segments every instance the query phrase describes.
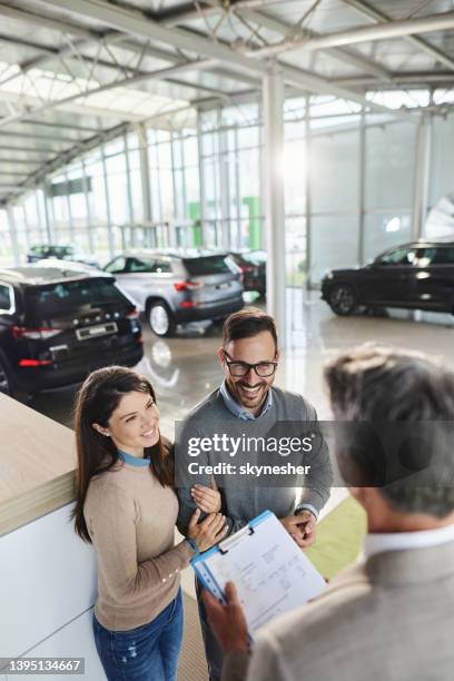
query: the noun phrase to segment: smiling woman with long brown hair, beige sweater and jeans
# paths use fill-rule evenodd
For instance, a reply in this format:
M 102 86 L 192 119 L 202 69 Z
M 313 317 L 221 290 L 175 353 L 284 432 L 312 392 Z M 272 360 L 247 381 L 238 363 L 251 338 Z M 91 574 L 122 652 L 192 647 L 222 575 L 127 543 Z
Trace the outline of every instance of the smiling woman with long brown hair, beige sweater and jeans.
M 90 374 L 76 403 L 76 532 L 98 557 L 95 641 L 109 681 L 172 681 L 182 636 L 179 572 L 226 533 L 210 513 L 174 546 L 178 514 L 170 445 L 159 433 L 155 392 L 112 366 Z M 200 501 L 201 499 L 201 501 Z M 197 504 L 219 510 L 218 493 Z

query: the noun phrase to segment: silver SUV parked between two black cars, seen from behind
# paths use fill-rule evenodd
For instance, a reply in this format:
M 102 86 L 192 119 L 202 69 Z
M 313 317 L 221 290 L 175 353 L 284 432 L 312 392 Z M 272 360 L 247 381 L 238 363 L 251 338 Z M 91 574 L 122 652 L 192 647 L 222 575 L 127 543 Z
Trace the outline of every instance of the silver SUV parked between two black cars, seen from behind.
M 241 272 L 226 253 L 131 250 L 105 267 L 145 312 L 157 336 L 177 324 L 223 319 L 241 309 Z

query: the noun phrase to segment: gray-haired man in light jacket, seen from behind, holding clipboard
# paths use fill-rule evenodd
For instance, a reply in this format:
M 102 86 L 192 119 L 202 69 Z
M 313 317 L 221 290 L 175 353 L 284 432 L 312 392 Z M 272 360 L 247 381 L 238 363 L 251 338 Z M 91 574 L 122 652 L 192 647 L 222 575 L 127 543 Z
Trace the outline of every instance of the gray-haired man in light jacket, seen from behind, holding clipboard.
M 223 681 L 451 680 L 454 374 L 421 355 L 366 346 L 329 364 L 325 377 L 342 424 L 339 470 L 367 515 L 364 560 L 265 626 L 251 651 L 235 586 L 227 605 L 204 592 L 226 653 Z

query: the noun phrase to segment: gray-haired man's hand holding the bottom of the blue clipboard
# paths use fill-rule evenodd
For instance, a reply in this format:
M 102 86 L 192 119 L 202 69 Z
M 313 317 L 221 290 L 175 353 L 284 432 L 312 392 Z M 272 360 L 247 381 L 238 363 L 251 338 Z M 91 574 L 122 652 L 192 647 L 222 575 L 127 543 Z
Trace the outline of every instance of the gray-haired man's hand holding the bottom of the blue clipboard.
M 206 589 L 201 598 L 211 626 L 225 653 L 234 650 L 249 650 L 245 613 L 238 601 L 233 582 L 226 584 L 227 605 L 219 603 Z

